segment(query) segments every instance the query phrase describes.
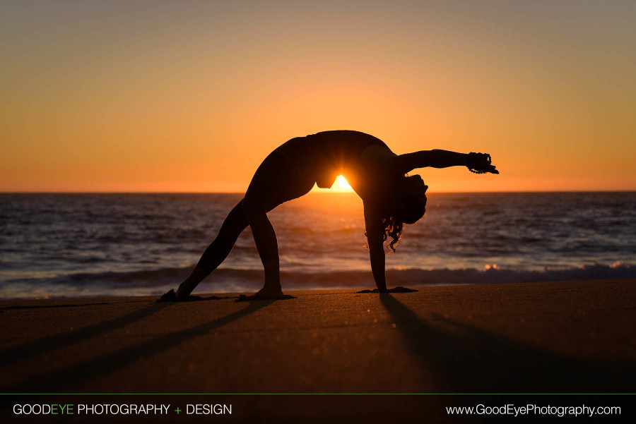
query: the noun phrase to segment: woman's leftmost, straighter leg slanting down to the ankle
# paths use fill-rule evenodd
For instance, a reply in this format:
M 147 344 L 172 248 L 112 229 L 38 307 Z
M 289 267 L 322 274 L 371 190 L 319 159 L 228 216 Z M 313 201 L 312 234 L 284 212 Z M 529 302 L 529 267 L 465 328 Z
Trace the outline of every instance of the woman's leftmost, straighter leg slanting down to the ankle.
M 241 200 L 225 218 L 218 235 L 201 255 L 192 274 L 179 285 L 177 300 L 187 298 L 194 288 L 228 257 L 237 238 L 246 228 L 247 219 L 243 214 L 243 200 Z

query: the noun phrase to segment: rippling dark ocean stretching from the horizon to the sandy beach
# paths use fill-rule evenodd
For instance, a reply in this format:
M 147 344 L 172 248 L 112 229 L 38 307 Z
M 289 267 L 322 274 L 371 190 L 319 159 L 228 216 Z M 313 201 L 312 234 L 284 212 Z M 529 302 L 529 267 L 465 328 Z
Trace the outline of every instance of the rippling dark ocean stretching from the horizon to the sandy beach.
M 0 298 L 159 295 L 242 195 L 0 194 Z M 310 193 L 270 212 L 284 290 L 371 289 L 363 205 Z M 636 192 L 428 193 L 387 255 L 389 286 L 636 277 Z M 249 228 L 194 294 L 255 291 Z

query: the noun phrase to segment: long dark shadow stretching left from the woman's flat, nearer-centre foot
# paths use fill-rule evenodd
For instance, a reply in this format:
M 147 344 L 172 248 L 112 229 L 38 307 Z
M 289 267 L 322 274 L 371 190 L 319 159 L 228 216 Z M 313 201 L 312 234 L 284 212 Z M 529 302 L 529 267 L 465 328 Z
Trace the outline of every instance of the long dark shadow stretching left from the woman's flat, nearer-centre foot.
M 94 379 L 100 375 L 124 368 L 126 365 L 135 363 L 142 356 L 146 358 L 155 356 L 162 351 L 166 351 L 185 341 L 194 339 L 194 337 L 206 334 L 213 329 L 239 320 L 271 303 L 273 303 L 273 301 L 251 303 L 247 308 L 237 310 L 235 313 L 225 315 L 225 317 L 220 317 L 205 324 L 197 325 L 196 327 L 165 334 L 155 339 L 129 346 L 120 351 L 64 368 L 63 370 L 40 375 L 26 382 L 13 385 L 12 387 L 6 387 L 3 390 L 7 393 L 46 393 L 53 391 L 61 393 L 66 387 L 72 387 L 73 385 L 81 384 L 81 382 Z

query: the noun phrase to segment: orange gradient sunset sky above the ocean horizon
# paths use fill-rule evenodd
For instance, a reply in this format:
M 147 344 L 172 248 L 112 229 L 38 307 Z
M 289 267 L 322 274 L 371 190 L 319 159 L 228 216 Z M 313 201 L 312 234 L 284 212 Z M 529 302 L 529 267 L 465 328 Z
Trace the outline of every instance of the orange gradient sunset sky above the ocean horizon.
M 285 140 L 489 152 L 431 191 L 636 190 L 635 1 L 1 1 L 0 191 L 242 191 Z

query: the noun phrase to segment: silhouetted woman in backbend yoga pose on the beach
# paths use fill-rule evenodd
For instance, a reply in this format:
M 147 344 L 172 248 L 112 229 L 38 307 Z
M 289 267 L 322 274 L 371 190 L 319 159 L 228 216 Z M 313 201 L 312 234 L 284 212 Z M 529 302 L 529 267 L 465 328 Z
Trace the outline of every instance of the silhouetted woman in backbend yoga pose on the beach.
M 379 291 L 387 291 L 384 277 L 384 241 L 395 251 L 403 224 L 424 216 L 428 186 L 416 168 L 468 166 L 477 174 L 499 174 L 490 155 L 423 150 L 396 155 L 379 140 L 358 131 L 324 131 L 284 143 L 265 158 L 249 183 L 245 197 L 232 209 L 218 235 L 201 256 L 192 274 L 161 301 L 186 301 L 197 284 L 228 256 L 238 236 L 249 225 L 265 268 L 265 283 L 252 299 L 281 298 L 278 242 L 267 212 L 307 194 L 314 183 L 330 188 L 338 175 L 345 176 L 364 204 L 365 229 L 371 271 Z

